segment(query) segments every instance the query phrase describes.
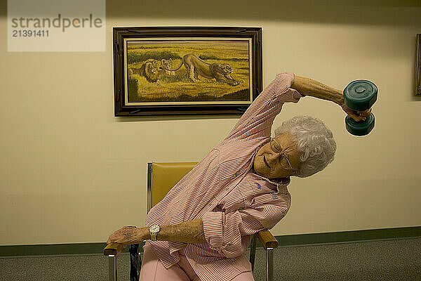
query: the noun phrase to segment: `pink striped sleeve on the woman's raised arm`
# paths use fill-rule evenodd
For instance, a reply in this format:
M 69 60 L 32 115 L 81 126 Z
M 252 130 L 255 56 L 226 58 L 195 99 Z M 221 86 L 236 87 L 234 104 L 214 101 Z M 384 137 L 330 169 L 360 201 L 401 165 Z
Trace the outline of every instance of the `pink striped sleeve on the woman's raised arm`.
M 276 115 L 283 103 L 298 103 L 302 95 L 290 88 L 293 73 L 279 73 L 276 78 L 251 103 L 225 141 L 229 139 L 269 137 Z

